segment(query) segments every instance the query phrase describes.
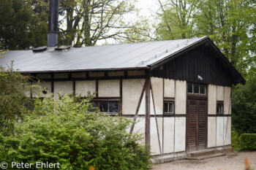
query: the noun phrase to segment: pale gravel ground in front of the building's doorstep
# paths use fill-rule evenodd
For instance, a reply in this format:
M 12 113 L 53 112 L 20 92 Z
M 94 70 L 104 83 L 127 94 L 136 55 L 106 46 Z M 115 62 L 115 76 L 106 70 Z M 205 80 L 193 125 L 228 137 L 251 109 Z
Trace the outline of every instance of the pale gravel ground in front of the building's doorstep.
M 256 170 L 256 152 L 233 152 L 217 158 L 202 161 L 173 161 L 154 165 L 152 170 L 244 170 L 244 158 L 251 163 L 251 169 Z

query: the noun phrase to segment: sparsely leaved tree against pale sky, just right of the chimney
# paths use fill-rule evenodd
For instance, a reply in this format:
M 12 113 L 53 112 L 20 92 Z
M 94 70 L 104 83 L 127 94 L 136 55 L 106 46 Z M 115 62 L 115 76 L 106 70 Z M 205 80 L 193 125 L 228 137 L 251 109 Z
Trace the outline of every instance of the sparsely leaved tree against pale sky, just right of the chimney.
M 146 28 L 125 20 L 127 14 L 135 12 L 135 0 L 62 0 L 61 11 L 67 22 L 60 28 L 61 45 L 94 46 L 99 40 L 114 39 L 140 41 Z M 136 31 L 136 36 L 131 31 Z M 132 35 L 133 34 L 133 35 Z M 137 36 L 138 35 L 138 36 Z

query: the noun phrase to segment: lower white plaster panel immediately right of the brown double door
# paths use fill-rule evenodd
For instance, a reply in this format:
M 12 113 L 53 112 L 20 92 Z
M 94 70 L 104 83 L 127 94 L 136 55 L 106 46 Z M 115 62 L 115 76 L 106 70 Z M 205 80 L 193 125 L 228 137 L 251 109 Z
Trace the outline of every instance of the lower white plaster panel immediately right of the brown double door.
M 208 117 L 207 147 L 215 147 L 216 144 L 216 117 Z

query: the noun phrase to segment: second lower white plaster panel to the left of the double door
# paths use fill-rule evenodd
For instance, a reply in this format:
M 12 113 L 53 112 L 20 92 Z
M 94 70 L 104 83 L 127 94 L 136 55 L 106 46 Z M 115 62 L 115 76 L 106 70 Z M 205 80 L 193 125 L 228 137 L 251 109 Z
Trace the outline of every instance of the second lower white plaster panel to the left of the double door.
M 174 117 L 164 118 L 163 153 L 174 152 Z

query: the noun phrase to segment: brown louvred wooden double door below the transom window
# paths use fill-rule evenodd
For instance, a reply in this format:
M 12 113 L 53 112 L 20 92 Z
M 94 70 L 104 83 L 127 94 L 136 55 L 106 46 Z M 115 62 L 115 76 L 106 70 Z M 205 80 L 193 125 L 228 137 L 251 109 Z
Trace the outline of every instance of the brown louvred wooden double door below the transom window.
M 207 98 L 187 100 L 187 152 L 207 147 Z

